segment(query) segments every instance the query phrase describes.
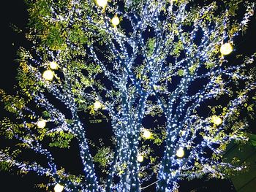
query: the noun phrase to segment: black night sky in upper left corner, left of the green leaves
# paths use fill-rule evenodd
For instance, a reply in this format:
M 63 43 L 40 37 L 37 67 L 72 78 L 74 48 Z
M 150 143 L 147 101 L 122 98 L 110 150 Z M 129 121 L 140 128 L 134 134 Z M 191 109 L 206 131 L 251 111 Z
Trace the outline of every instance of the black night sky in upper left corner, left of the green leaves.
M 10 28 L 11 23 L 24 28 L 26 26 L 27 14 L 26 7 L 23 0 L 4 1 L 1 12 L 1 66 L 3 74 L 0 76 L 0 88 L 11 91 L 14 85 L 16 67 L 14 58 L 16 58 L 16 51 L 20 45 L 23 45 L 23 35 L 18 34 Z M 3 22 L 4 21 L 4 22 Z

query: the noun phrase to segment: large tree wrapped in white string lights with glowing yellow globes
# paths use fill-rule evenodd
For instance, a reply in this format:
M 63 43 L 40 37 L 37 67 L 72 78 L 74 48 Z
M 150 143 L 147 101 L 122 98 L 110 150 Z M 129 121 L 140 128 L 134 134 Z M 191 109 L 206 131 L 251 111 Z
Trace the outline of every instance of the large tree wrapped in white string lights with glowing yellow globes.
M 45 175 L 46 188 L 56 191 L 140 191 L 153 177 L 157 191 L 175 191 L 182 178 L 226 177 L 243 168 L 222 155 L 231 140 L 247 138 L 239 112 L 255 94 L 255 54 L 237 55 L 233 63 L 228 55 L 254 3 L 26 3 L 26 38 L 33 45 L 18 52 L 17 95 L 1 91 L 13 113 L 1 121 L 1 135 L 16 142 L 1 150 L 2 168 Z M 81 115 L 102 110 L 111 120 L 114 148 L 99 147 L 92 156 Z M 147 128 L 148 117 L 164 120 Z M 50 153 L 49 147 L 69 147 L 74 139 L 83 175 L 59 168 Z M 164 153 L 155 155 L 159 149 Z M 19 161 L 23 150 L 44 156 L 48 165 Z M 100 181 L 96 162 L 108 174 Z

